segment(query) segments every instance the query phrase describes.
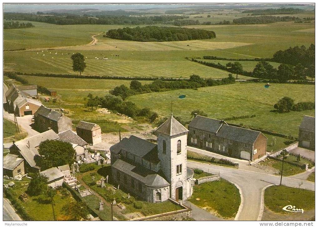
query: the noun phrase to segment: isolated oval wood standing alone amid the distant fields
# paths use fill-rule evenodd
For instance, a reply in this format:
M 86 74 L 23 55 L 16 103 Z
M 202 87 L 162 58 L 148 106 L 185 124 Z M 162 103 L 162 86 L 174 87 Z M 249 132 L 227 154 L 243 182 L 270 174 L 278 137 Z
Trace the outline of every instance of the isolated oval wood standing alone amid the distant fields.
M 107 31 L 105 37 L 140 42 L 165 42 L 215 38 L 214 31 L 176 27 L 135 27 Z

